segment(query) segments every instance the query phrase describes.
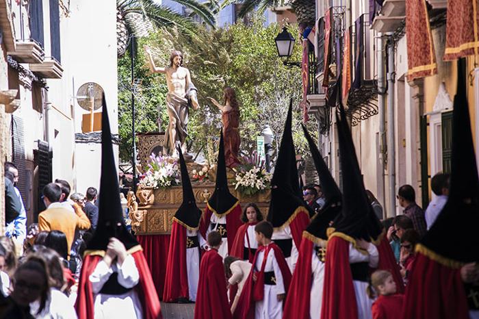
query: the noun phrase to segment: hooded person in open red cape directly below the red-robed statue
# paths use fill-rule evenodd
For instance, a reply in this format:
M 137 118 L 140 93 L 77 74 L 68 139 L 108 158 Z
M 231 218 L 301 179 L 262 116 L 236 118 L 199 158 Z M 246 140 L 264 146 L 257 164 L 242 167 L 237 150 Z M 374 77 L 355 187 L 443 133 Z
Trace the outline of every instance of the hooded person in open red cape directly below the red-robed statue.
M 226 164 L 224 162 L 223 133 L 220 133 L 220 149 L 218 151 L 218 164 L 216 166 L 215 191 L 208 200 L 205 212 L 200 220 L 200 234 L 207 238 L 210 231 L 218 231 L 222 237 L 222 244 L 218 249 L 221 257 L 226 257 L 231 252 L 237 229 L 242 225 L 241 206 L 238 199 L 229 192 L 228 179 L 226 179 Z M 203 239 L 202 242 L 205 242 Z M 205 248 L 205 245 L 202 245 Z

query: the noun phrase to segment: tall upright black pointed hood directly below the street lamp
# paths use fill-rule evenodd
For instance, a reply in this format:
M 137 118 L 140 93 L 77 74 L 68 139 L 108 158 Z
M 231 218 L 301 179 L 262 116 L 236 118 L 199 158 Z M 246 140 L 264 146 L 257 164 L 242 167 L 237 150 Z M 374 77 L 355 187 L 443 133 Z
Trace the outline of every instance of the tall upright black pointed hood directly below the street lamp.
M 271 180 L 271 202 L 267 219 L 275 228 L 285 225 L 298 207 L 309 210 L 301 197 L 298 168 L 296 168 L 296 152 L 292 135 L 292 105 L 293 100 L 289 101 L 285 130 Z

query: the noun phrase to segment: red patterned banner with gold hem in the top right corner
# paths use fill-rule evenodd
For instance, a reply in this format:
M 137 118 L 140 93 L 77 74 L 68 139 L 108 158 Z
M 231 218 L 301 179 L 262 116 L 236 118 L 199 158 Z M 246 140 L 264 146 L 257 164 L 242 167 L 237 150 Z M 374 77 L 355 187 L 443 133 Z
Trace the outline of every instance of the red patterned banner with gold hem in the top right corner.
M 478 0 L 448 0 L 444 60 L 478 54 Z

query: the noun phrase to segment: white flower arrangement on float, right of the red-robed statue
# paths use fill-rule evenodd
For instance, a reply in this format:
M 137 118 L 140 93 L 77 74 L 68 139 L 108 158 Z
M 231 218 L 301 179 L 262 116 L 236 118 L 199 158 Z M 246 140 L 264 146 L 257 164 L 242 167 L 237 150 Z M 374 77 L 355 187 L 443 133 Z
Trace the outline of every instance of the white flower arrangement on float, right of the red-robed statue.
M 270 188 L 272 174 L 263 168 L 263 163 L 247 163 L 241 168 L 233 168 L 236 173 L 233 185 L 235 190 L 246 196 L 252 196 Z

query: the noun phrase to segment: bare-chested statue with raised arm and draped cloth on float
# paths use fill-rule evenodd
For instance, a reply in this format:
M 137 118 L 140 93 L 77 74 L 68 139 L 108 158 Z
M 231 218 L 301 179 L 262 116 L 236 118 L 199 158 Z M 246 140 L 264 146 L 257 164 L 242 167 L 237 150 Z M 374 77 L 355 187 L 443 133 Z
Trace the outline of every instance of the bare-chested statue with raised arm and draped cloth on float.
M 183 67 L 183 55 L 180 51 L 172 51 L 170 55 L 170 65 L 164 68 L 155 66 L 151 50 L 145 47 L 146 55 L 153 73 L 162 73 L 166 75 L 166 84 L 168 84 L 168 93 L 166 94 L 166 110 L 170 118 L 170 124 L 165 132 L 165 142 L 163 145 L 164 155 L 178 157 L 176 145 L 181 145 L 181 150 L 185 157 L 191 158 L 186 153 L 186 127 L 188 124 L 188 108 L 191 106 L 194 110 L 198 109 L 198 98 L 196 97 L 196 88 L 194 87 L 190 71 Z

